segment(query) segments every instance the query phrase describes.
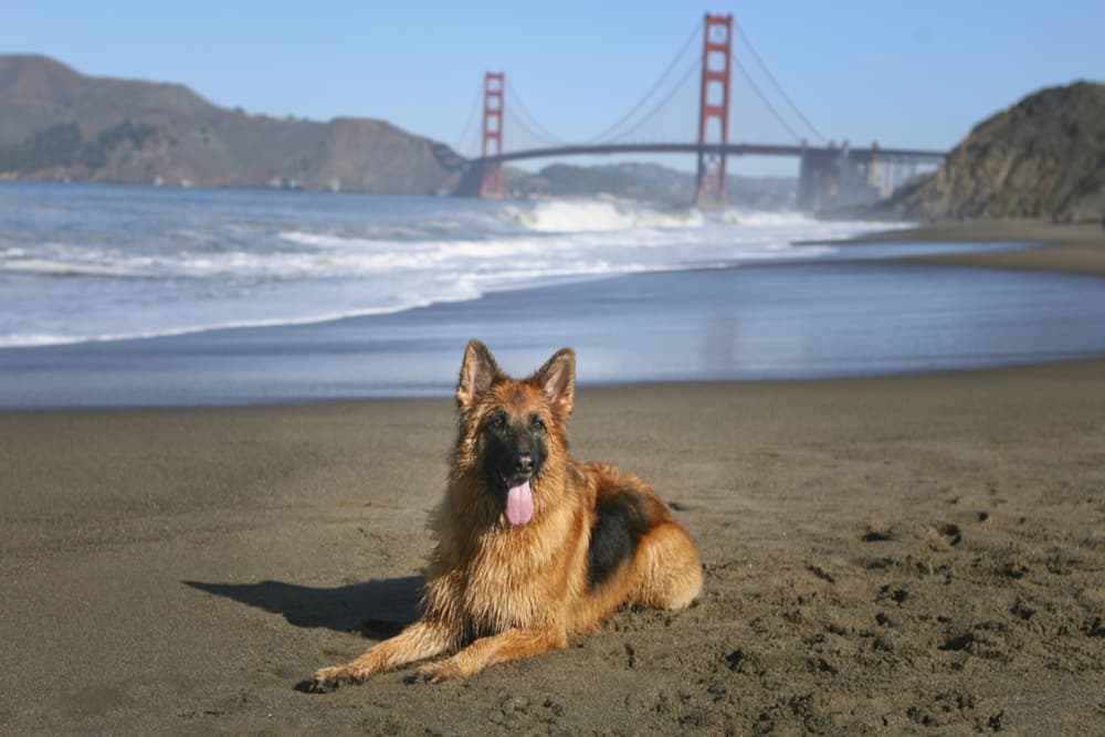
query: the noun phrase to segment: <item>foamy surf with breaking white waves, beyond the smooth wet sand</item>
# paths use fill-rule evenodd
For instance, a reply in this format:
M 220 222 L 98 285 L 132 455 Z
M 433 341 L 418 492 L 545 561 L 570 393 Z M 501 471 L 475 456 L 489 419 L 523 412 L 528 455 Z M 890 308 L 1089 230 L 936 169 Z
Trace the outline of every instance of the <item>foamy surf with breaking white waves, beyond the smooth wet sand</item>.
M 105 227 L 87 191 L 65 190 L 72 201 L 49 212 L 15 202 L 19 228 L 0 228 L 0 347 L 313 323 L 565 280 L 825 257 L 833 249 L 791 242 L 874 228 L 614 201 L 343 196 L 293 208 L 296 194 L 256 192 L 194 208 L 160 191 L 122 203 L 125 217 Z

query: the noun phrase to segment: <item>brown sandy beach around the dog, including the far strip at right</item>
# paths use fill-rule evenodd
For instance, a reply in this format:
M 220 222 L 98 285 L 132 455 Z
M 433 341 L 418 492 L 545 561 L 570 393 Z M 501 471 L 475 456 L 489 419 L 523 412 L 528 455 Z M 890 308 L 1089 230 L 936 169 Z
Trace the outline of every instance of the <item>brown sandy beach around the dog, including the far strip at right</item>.
M 1099 227 L 967 228 L 908 238 L 1105 273 Z M 415 617 L 451 401 L 0 413 L 0 731 L 1105 733 L 1103 387 L 1105 358 L 585 388 L 573 452 L 660 489 L 701 601 L 325 695 L 296 685 Z

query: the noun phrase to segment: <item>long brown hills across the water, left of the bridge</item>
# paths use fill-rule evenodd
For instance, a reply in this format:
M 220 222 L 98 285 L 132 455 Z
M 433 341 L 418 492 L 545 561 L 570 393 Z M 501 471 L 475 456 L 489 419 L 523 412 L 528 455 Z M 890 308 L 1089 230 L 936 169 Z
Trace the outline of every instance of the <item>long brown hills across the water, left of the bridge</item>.
M 179 84 L 0 55 L 0 179 L 449 193 L 466 160 L 370 118 L 248 115 Z

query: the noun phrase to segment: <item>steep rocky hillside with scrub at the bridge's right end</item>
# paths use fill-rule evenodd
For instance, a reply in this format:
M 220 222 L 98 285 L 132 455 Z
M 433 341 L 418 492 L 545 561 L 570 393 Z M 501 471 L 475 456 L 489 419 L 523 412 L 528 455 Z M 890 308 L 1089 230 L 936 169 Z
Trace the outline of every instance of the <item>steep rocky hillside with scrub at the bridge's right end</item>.
M 1105 84 L 1029 95 L 970 131 L 930 177 L 878 209 L 918 220 L 1105 214 Z

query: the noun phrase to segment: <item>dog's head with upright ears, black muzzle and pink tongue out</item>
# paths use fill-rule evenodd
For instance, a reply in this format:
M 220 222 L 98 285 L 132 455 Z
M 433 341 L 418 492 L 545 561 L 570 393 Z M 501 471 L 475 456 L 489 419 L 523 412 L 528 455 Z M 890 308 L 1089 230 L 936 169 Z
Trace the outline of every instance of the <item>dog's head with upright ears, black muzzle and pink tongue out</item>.
M 456 465 L 480 474 L 512 525 L 541 506 L 541 480 L 562 473 L 576 391 L 576 354 L 562 348 L 527 379 L 503 373 L 478 340 L 469 343 L 456 386 Z

